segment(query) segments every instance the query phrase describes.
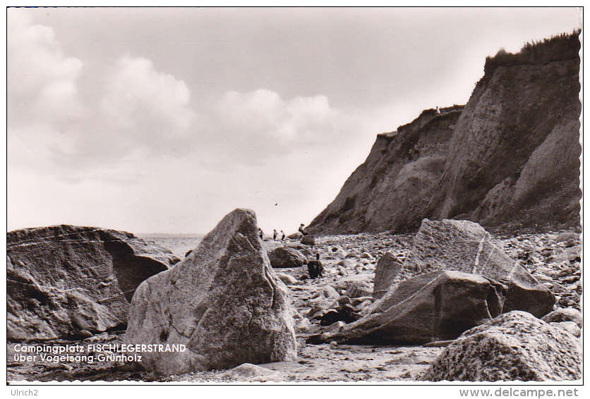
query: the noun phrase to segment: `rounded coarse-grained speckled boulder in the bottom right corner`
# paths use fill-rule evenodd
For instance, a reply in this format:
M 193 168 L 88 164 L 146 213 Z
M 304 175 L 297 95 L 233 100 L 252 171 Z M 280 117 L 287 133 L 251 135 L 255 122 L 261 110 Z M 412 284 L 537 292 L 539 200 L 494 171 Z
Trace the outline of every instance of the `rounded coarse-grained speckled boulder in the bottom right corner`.
M 582 379 L 582 346 L 527 312 L 502 314 L 460 336 L 433 362 L 427 381 Z

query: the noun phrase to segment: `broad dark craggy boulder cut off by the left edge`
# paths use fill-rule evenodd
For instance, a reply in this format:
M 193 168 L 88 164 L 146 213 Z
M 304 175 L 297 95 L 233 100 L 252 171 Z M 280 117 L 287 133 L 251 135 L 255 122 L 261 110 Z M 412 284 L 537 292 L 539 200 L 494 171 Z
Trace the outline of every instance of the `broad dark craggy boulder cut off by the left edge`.
M 125 328 L 138 285 L 179 260 L 122 231 L 66 225 L 11 231 L 7 338 L 78 338 Z

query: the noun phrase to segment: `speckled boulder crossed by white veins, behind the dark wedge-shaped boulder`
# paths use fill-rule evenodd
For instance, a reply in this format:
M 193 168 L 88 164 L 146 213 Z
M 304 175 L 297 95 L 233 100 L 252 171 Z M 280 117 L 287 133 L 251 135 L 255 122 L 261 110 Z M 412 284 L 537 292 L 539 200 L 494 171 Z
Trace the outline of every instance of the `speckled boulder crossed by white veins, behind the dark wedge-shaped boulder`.
M 504 312 L 524 310 L 543 317 L 551 312 L 555 295 L 529 271 L 493 245 L 478 223 L 424 219 L 414 237 L 404 269 L 413 272 L 444 269 L 481 274 L 508 287 Z

